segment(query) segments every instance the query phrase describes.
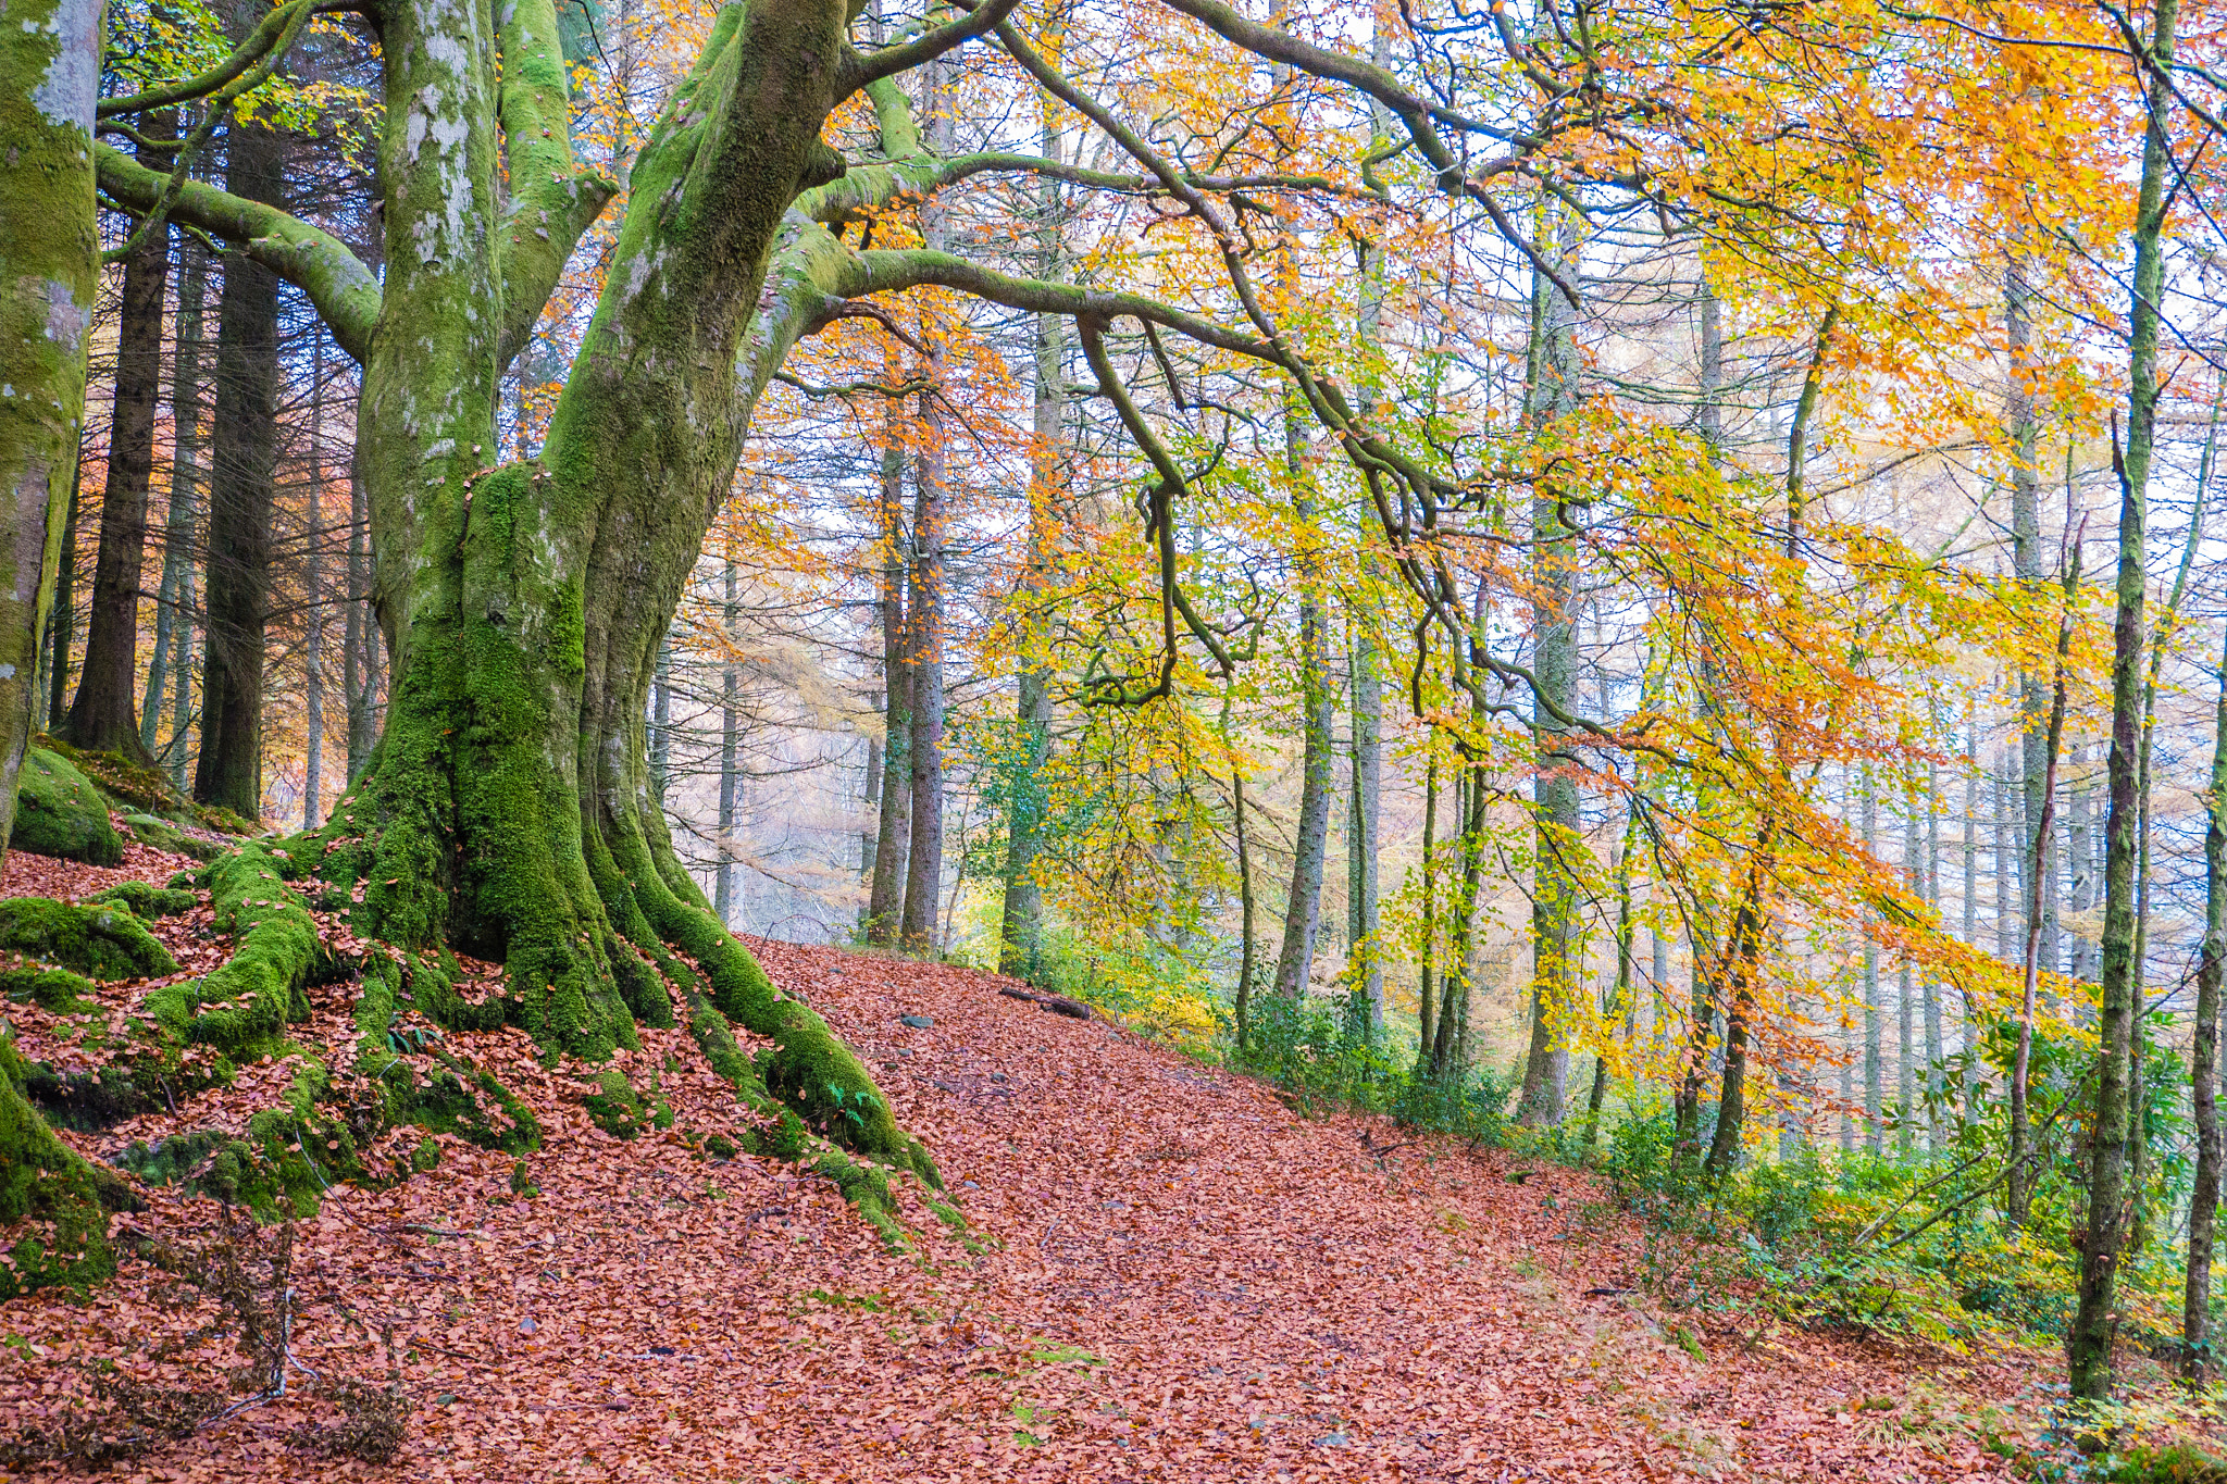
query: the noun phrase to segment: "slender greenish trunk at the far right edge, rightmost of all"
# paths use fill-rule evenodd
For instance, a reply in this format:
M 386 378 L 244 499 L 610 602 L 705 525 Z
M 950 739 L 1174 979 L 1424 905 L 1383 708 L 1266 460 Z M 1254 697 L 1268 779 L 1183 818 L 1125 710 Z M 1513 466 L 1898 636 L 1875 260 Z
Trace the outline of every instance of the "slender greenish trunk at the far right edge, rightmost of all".
M 2180 1310 L 2180 1373 L 2211 1377 L 2211 1244 L 2220 1210 L 2220 979 L 2227 975 L 2227 654 L 2211 716 L 2211 785 L 2205 790 L 2205 943 L 2196 959 L 2196 1043 L 2189 1090 L 2196 1106 L 2196 1188 L 2189 1195 L 2189 1282 Z

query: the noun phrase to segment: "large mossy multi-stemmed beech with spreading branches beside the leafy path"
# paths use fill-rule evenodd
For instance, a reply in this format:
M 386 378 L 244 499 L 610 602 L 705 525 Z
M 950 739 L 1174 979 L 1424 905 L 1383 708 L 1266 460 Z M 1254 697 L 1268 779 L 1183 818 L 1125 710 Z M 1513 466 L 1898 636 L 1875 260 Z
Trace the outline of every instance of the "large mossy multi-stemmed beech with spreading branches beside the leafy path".
M 1216 0 L 1162 4 L 1187 18 L 1167 24 L 1245 58 L 1240 71 L 1265 65 L 1278 87 L 1350 98 L 1367 189 L 1287 174 L 1274 151 L 1258 174 L 1189 169 L 1040 56 L 1011 18 L 1013 0 L 955 0 L 895 44 L 871 49 L 853 42 L 857 11 L 844 0 L 737 0 L 717 13 L 630 165 L 601 296 L 541 454 L 523 463 L 497 454 L 499 378 L 617 191 L 575 154 L 550 0 L 356 7 L 381 58 L 381 274 L 314 222 L 98 147 L 109 205 L 136 218 L 167 214 L 294 283 L 361 365 L 356 474 L 392 701 L 385 736 L 350 797 L 323 830 L 278 854 L 294 881 L 350 910 L 359 934 L 403 950 L 399 961 L 367 963 L 365 1017 L 408 988 L 436 1021 L 508 1019 L 550 1052 L 597 1059 L 630 1046 L 637 1023 L 670 1017 L 661 970 L 681 986 L 706 1055 L 746 1090 L 762 1081 L 853 1150 L 935 1179 L 864 1068 L 808 1008 L 773 990 L 677 861 L 644 730 L 659 639 L 733 485 L 762 392 L 804 336 L 860 314 L 873 296 L 940 285 L 1073 323 L 1096 394 L 1149 465 L 1142 505 L 1160 576 L 1158 661 L 1136 676 L 1087 676 L 1093 701 L 1169 694 L 1178 645 L 1225 672 L 1232 665 L 1227 632 L 1183 592 L 1171 512 L 1191 485 L 1116 367 L 1109 334 L 1120 320 L 1276 378 L 1289 414 L 1323 429 L 1323 447 L 1343 454 L 1376 509 L 1392 538 L 1390 570 L 1421 605 L 1416 636 L 1436 632 L 1461 656 L 1474 639 L 1472 614 L 1439 538 L 1456 512 L 1488 505 L 1490 481 L 1448 469 L 1436 454 L 1410 456 L 1383 432 L 1392 418 L 1361 416 L 1307 360 L 1254 283 L 1245 211 L 1258 214 L 1265 196 L 1343 196 L 1376 209 L 1390 187 L 1372 169 L 1410 154 L 1423 198 L 1436 194 L 1454 202 L 1439 209 L 1501 234 L 1537 263 L 1543 291 L 1574 307 L 1574 276 L 1514 225 L 1525 216 L 1519 202 L 1537 194 L 1525 162 L 1570 142 L 1557 182 L 1597 171 L 1668 209 L 1672 191 L 1652 182 L 1644 158 L 1603 156 L 1588 140 L 1628 136 L 1632 120 L 1666 120 L 1657 142 L 1677 160 L 1681 125 L 1632 98 L 1597 47 L 1523 40 L 1505 22 L 1483 44 L 1517 65 L 1508 87 L 1530 102 L 1503 111 L 1483 100 L 1461 111 L 1390 67 Z M 218 113 L 269 76 L 314 9 L 345 7 L 285 0 L 232 60 L 107 100 L 102 118 L 122 122 L 187 98 L 207 98 L 205 111 Z M 920 127 L 900 78 L 969 40 L 1000 47 L 1033 87 L 1127 156 L 1129 169 L 938 147 L 942 136 Z M 1655 85 L 1655 73 L 1635 76 Z M 842 136 L 860 156 L 844 158 L 824 131 L 860 93 L 871 102 L 873 142 Z M 1370 138 L 1361 122 L 1370 105 L 1392 138 Z M 1494 116 L 1530 122 L 1503 127 Z M 1220 314 L 1016 276 L 933 247 L 869 247 L 869 231 L 848 231 L 984 174 L 1154 198 L 1185 218 L 1200 258 L 1218 267 Z M 1165 369 L 1158 340 L 1154 352 Z M 1456 672 L 1479 708 L 1488 687 L 1494 696 L 1530 687 L 1541 694 L 1541 721 L 1579 725 L 1523 665 L 1481 645 Z M 468 1003 L 443 972 L 443 948 L 499 961 L 508 992 Z M 728 1021 L 771 1037 L 775 1050 L 755 1066 L 742 1059 Z

